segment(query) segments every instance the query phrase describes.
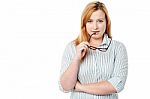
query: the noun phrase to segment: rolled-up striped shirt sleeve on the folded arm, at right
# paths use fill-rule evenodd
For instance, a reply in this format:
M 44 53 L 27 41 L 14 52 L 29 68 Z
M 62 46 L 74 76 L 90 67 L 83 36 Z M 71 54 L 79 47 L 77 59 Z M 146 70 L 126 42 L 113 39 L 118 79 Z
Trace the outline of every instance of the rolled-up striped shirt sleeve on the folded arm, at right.
M 108 80 L 117 93 L 124 89 L 128 74 L 128 56 L 125 46 L 120 43 L 115 51 L 114 71 Z

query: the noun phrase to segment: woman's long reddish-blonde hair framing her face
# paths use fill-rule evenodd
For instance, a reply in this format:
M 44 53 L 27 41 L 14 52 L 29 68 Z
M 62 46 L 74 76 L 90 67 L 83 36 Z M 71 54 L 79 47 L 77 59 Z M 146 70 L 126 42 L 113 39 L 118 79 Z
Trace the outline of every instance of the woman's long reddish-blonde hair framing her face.
M 94 1 L 94 2 L 89 3 L 83 10 L 83 13 L 81 16 L 81 33 L 74 40 L 76 45 L 80 44 L 83 41 L 88 41 L 89 34 L 86 31 L 86 23 L 90 19 L 90 16 L 92 15 L 92 13 L 97 10 L 102 10 L 105 13 L 105 18 L 106 18 L 105 33 L 108 34 L 109 38 L 112 38 L 111 37 L 111 22 L 110 22 L 107 8 L 103 3 L 99 2 L 99 1 Z

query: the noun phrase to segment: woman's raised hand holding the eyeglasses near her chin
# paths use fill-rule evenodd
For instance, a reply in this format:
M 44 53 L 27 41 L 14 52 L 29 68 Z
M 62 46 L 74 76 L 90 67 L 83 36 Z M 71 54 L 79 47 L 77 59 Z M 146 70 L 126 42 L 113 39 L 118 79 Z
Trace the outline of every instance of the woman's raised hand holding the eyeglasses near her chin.
M 79 45 L 77 45 L 75 58 L 81 60 L 86 55 L 88 51 L 87 45 L 89 45 L 88 42 L 81 42 Z

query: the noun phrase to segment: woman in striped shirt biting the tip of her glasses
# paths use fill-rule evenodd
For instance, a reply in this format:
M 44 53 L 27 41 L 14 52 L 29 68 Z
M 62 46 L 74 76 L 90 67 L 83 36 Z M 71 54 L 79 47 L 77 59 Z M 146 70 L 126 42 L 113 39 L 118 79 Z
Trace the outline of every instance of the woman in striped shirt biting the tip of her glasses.
M 60 88 L 71 99 L 118 99 L 123 90 L 128 57 L 125 46 L 112 40 L 108 11 L 101 2 L 89 3 L 81 17 L 81 33 L 62 58 Z

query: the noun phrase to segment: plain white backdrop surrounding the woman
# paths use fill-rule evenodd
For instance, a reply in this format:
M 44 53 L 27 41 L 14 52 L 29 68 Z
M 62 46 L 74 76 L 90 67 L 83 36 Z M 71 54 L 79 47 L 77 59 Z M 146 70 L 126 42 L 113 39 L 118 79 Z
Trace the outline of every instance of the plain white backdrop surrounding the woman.
M 61 57 L 92 0 L 0 0 L 0 99 L 69 99 L 58 88 Z M 148 0 L 104 0 L 129 74 L 119 99 L 149 99 Z

